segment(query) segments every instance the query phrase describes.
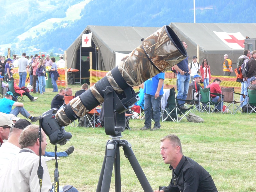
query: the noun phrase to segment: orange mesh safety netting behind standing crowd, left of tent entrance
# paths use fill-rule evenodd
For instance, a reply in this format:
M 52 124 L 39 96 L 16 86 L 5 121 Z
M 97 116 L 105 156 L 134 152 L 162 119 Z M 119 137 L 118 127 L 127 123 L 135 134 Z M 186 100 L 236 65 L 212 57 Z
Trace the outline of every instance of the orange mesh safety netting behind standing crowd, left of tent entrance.
M 16 83 L 17 85 L 19 85 L 19 82 L 20 82 L 20 76 L 19 76 L 19 72 L 18 72 L 18 69 L 19 68 L 13 68 L 11 70 L 12 72 L 12 77 L 14 78 L 14 83 Z M 66 84 L 66 71 L 67 69 L 58 69 L 58 72 L 60 74 L 60 77 L 58 78 L 58 81 L 57 81 L 57 85 L 60 86 L 60 87 L 67 87 L 68 86 L 68 83 Z M 47 80 L 48 81 L 51 81 L 51 79 L 48 77 L 48 73 L 46 73 L 46 76 L 47 76 Z M 46 81 L 47 81 L 46 80 Z M 27 78 L 26 78 L 26 85 L 30 83 L 30 78 L 29 78 L 29 73 L 27 72 Z

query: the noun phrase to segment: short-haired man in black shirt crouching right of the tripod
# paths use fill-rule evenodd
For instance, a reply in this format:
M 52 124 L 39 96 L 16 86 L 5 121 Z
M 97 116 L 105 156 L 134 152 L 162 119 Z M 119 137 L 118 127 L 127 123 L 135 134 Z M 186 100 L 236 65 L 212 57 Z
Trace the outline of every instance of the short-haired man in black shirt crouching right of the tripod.
M 165 164 L 170 164 L 172 179 L 167 187 L 154 192 L 218 192 L 212 176 L 201 165 L 183 156 L 180 139 L 167 135 L 161 140 L 161 152 Z

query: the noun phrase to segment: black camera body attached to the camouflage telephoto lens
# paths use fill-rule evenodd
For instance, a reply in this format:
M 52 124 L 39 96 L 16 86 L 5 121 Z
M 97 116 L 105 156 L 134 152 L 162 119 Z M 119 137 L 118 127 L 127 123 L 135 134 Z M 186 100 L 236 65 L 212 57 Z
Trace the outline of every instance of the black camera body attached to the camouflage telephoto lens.
M 66 142 L 71 139 L 72 135 L 70 132 L 66 132 L 64 127 L 58 124 L 55 118 L 56 112 L 56 108 L 44 112 L 42 115 L 43 120 L 41 126 L 45 134 L 49 137 L 52 145 L 65 145 Z

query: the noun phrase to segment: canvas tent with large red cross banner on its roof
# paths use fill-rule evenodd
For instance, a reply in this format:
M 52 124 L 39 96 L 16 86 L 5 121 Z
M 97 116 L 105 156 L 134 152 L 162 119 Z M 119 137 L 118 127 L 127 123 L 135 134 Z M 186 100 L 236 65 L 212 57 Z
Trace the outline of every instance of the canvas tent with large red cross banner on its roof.
M 238 40 L 241 44 L 246 36 L 255 38 L 256 31 L 255 23 L 171 23 L 169 26 L 180 40 L 187 43 L 189 62 L 194 55 L 197 55 L 197 45 L 199 45 L 197 62 L 201 65 L 203 58 L 206 58 L 212 75 L 223 75 L 224 54 L 228 54 L 234 69 L 237 59 L 244 51 L 244 48 L 239 47 L 237 43 L 225 43 L 226 40 L 222 40 L 221 36 L 223 35 L 224 39 L 231 39 L 228 35 L 238 36 L 237 39 L 240 37 Z M 231 75 L 235 76 L 235 73 Z

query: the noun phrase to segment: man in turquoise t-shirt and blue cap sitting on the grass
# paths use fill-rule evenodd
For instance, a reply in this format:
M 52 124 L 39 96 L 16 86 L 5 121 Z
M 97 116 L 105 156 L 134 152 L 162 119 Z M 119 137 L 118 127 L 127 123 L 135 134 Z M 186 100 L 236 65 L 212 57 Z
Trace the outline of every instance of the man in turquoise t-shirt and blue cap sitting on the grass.
M 31 116 L 28 111 L 23 107 L 24 104 L 20 102 L 15 102 L 12 100 L 13 94 L 12 92 L 8 91 L 5 94 L 5 98 L 0 99 L 0 112 L 6 113 L 6 114 L 13 114 L 15 116 L 18 116 L 19 113 L 23 115 L 24 117 L 30 119 L 32 122 L 36 122 L 39 120 L 39 117 L 33 117 Z M 15 106 L 14 109 L 12 109 L 12 106 Z

